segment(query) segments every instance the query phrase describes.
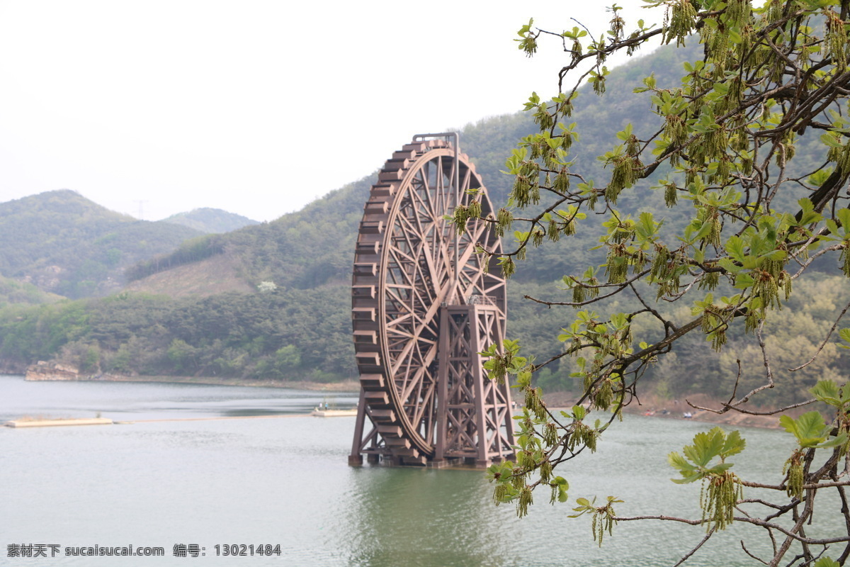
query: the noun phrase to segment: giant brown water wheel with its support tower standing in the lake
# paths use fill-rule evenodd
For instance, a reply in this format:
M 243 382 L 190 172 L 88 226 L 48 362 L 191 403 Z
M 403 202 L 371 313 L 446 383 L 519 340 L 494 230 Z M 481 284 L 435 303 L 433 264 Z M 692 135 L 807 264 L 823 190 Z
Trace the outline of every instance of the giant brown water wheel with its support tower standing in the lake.
M 479 465 L 513 455 L 511 400 L 484 376 L 500 344 L 505 281 L 492 223 L 458 235 L 445 215 L 477 201 L 494 217 L 456 133 L 423 134 L 396 151 L 365 203 L 354 255 L 352 320 L 360 405 L 349 462 Z M 452 145 L 450 141 L 453 141 Z

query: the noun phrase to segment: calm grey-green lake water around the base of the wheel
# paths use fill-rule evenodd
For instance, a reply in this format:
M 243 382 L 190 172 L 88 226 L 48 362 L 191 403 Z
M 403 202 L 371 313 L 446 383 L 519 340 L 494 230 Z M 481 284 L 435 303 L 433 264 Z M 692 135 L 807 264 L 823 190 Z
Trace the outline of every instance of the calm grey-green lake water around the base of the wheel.
M 354 394 L 335 394 L 350 407 Z M 670 522 L 622 522 L 598 548 L 589 519 L 568 519 L 579 496 L 620 496 L 620 515 L 699 518 L 699 486 L 670 482 L 666 454 L 705 423 L 626 417 L 595 455 L 560 471 L 570 502 L 548 495 L 524 519 L 495 507 L 484 473 L 348 466 L 354 417 L 307 414 L 320 392 L 163 383 L 30 383 L 0 376 L 0 422 L 23 416 L 110 417 L 111 426 L 0 428 L 0 564 L 9 565 L 672 565 L 704 532 Z M 330 398 L 329 398 L 330 400 Z M 269 416 L 286 417 L 269 417 Z M 209 420 L 207 417 L 252 417 Z M 158 421 L 143 421 L 158 420 Z M 161 421 L 166 420 L 166 421 Z M 788 434 L 742 429 L 740 475 L 778 482 Z M 746 495 L 750 496 L 750 495 Z M 840 529 L 825 523 L 825 533 Z M 734 526 L 688 565 L 749 565 Z M 48 558 L 8 558 L 8 546 L 59 546 Z M 163 557 L 65 557 L 65 547 L 163 547 Z M 280 546 L 280 556 L 225 557 L 231 544 Z M 175 546 L 199 552 L 173 555 Z M 188 547 L 188 546 L 197 546 Z M 731 551 L 730 551 L 731 550 Z M 201 553 L 206 553 L 201 555 Z

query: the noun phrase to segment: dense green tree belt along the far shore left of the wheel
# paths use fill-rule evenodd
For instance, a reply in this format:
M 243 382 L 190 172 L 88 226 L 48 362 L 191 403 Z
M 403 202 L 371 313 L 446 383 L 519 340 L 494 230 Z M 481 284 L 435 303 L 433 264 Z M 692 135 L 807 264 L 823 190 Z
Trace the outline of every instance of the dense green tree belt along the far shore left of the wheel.
M 351 375 L 348 290 L 269 290 L 171 299 L 118 293 L 0 309 L 0 360 L 58 359 L 90 375 L 328 381 Z M 299 373 L 294 374 L 293 369 Z

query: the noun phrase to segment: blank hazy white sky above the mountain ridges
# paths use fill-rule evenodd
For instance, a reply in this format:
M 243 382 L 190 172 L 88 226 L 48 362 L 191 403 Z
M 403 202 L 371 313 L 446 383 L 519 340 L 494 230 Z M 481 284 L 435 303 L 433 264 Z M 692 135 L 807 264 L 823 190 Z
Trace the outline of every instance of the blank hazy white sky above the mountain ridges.
M 554 94 L 564 54 L 526 59 L 516 31 L 601 31 L 610 3 L 0 0 L 0 202 L 72 189 L 147 220 L 271 220 L 413 134 Z

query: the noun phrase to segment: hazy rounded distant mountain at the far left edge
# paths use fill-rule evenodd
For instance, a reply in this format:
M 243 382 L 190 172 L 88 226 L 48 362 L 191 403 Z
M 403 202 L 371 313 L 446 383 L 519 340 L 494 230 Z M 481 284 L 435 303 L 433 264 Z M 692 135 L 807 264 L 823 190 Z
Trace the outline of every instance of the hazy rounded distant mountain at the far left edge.
M 0 275 L 68 298 L 103 296 L 122 288 L 127 266 L 199 234 L 48 191 L 0 203 Z

